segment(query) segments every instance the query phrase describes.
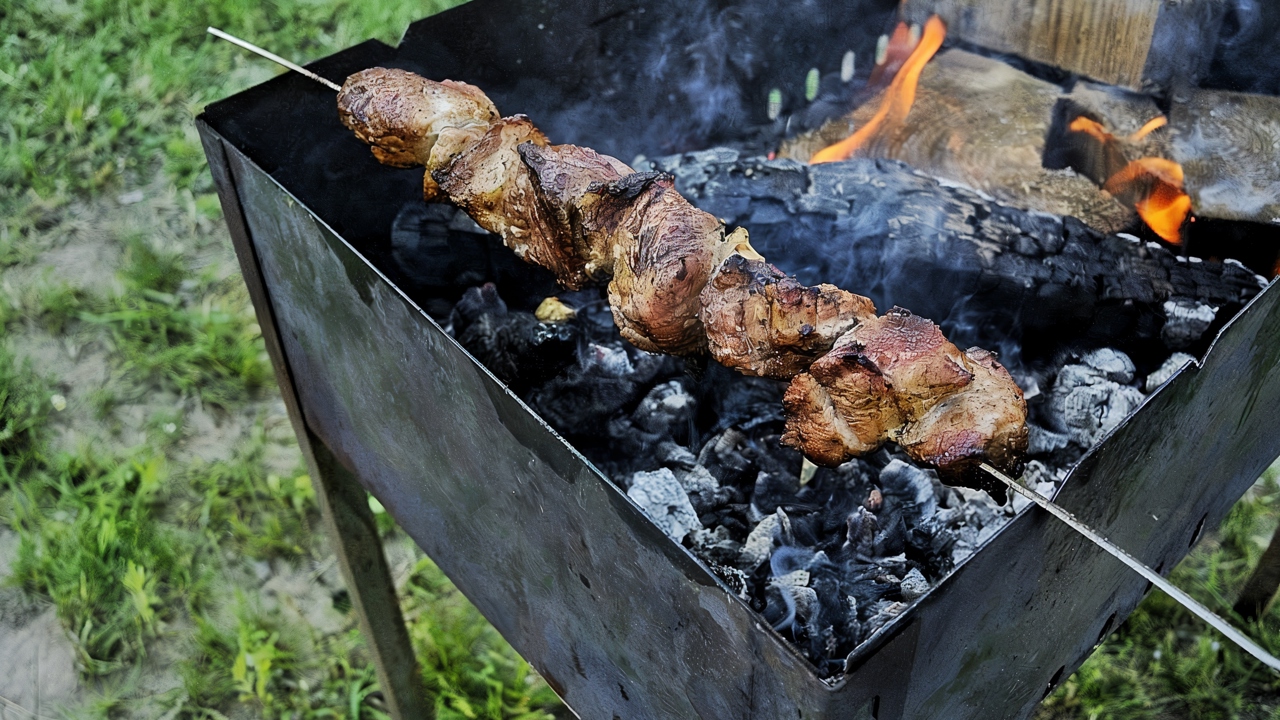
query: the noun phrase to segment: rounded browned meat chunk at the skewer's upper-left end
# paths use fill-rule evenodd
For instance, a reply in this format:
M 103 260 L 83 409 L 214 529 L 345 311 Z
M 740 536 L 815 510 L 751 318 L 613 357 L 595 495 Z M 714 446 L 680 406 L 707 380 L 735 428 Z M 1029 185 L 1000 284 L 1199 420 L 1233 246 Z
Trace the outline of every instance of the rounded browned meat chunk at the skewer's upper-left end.
M 485 128 L 498 119 L 479 87 L 435 82 L 393 68 L 370 68 L 347 78 L 338 94 L 338 117 L 371 146 L 379 163 L 396 168 L 426 165 L 445 128 Z

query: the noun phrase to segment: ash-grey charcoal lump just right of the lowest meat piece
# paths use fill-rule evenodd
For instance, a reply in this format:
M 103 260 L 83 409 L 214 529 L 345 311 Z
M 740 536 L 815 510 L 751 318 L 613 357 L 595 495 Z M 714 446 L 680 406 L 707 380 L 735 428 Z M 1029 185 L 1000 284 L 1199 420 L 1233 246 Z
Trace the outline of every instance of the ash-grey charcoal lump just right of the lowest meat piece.
M 1137 410 L 1143 398 L 1142 391 L 1107 379 L 1097 368 L 1065 365 L 1053 383 L 1050 406 L 1059 425 L 1055 429 L 1088 448 Z

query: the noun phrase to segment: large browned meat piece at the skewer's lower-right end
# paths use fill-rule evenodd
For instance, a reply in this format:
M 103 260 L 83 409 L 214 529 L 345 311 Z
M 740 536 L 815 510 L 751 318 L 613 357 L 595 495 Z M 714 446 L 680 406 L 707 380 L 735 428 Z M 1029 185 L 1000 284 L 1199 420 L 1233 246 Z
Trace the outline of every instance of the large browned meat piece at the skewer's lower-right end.
M 956 479 L 983 460 L 1016 470 L 1027 450 L 1027 404 L 995 356 L 900 307 L 841 337 L 783 402 L 782 441 L 826 465 L 895 441 Z

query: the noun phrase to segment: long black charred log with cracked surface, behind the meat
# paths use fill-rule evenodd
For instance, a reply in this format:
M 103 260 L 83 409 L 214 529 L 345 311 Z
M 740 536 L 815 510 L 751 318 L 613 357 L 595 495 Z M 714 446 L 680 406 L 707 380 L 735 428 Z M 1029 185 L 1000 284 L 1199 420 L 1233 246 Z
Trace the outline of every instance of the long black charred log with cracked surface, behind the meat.
M 1167 352 L 1147 356 L 1164 347 L 1169 301 L 1225 318 L 1265 283 L 1234 261 L 1188 260 L 1074 218 L 1000 205 L 893 160 L 803 165 L 722 149 L 654 164 L 700 208 L 746 227 L 800 282 L 867 295 L 882 311 L 911 307 L 960 347 L 1020 346 L 1023 360 L 1111 346 L 1158 364 Z M 1184 329 L 1171 334 L 1178 345 Z

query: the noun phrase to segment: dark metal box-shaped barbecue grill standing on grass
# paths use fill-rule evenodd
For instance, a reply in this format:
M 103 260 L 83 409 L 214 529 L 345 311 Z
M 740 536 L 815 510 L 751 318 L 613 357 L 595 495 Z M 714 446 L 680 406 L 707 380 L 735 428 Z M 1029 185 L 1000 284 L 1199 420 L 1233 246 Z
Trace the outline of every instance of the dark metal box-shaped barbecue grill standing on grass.
M 845 47 L 869 53 L 895 3 L 870 20 L 833 1 L 744 5 L 740 32 L 758 64 L 716 81 L 764 97 L 795 86 L 796 68 L 838 67 Z M 673 41 L 694 15 L 666 4 L 474 0 L 415 23 L 398 49 L 370 41 L 308 67 L 337 81 L 374 65 L 465 79 L 558 142 L 630 159 L 769 122 L 763 102 L 707 104 L 705 88 L 671 90 L 628 64 L 655 42 L 671 44 L 673 63 L 704 63 Z M 388 240 L 421 170 L 379 165 L 339 124 L 333 94 L 293 74 L 211 105 L 197 124 L 401 716 L 425 706 L 410 689 L 416 670 L 362 489 L 590 719 L 1025 717 L 1148 589 L 1028 510 L 826 682 L 431 319 L 426 309 L 452 291 L 415 277 Z M 1056 501 L 1171 569 L 1280 455 L 1277 368 L 1272 283 L 1202 363 L 1079 461 Z

